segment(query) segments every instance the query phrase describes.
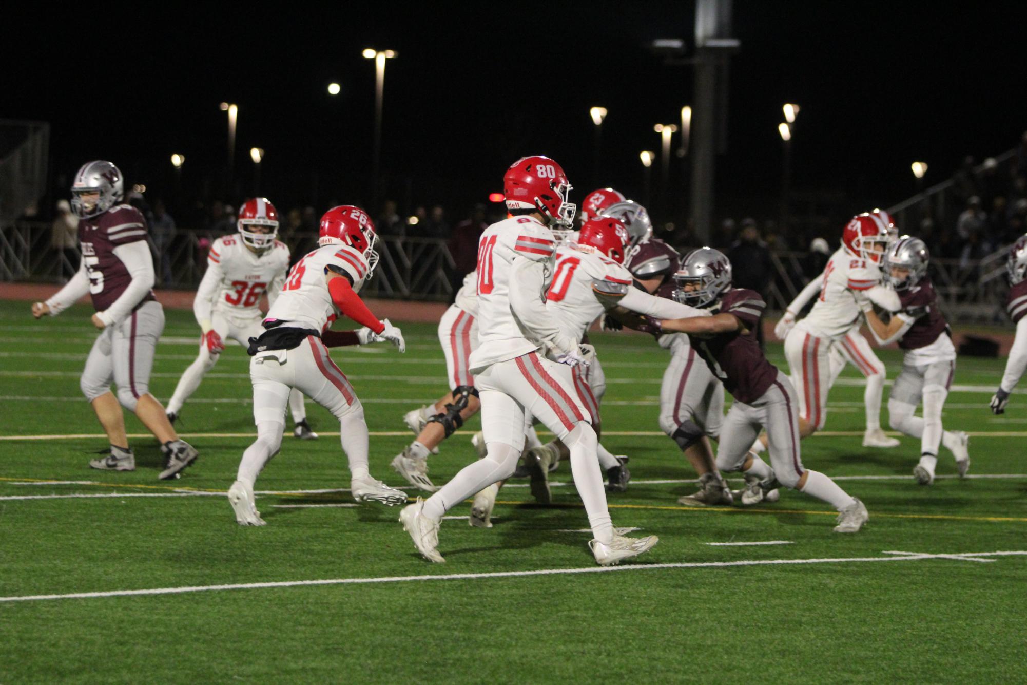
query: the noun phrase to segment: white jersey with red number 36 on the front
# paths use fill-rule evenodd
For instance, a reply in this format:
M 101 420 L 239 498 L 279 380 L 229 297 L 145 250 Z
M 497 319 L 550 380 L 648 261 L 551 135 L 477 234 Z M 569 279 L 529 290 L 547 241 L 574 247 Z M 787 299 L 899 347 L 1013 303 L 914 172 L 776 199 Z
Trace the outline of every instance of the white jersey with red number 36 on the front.
M 267 292 L 273 301 L 289 271 L 289 248 L 284 242 L 262 255 L 246 248 L 238 235 L 223 235 L 211 245 L 206 273 L 193 300 L 196 320 L 210 319 L 217 311 L 232 318 L 260 316 L 260 298 Z

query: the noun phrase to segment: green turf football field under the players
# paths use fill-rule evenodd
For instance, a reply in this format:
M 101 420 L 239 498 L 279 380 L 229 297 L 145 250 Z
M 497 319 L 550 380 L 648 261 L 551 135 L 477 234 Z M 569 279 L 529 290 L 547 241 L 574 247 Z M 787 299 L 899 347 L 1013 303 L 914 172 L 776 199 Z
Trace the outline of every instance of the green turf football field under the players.
M 500 493 L 491 530 L 467 525 L 469 504 L 450 511 L 448 563 L 431 565 L 398 507 L 352 505 L 341 491 L 349 475 L 334 434 L 287 436 L 257 484 L 272 491 L 258 496 L 268 525 L 235 524 L 223 493 L 253 422 L 249 357 L 234 345 L 183 412 L 178 427 L 200 459 L 181 481 L 157 481 L 146 437 L 132 441 L 136 471 L 89 469 L 106 445 L 78 389 L 89 313 L 35 321 L 28 303 L 0 303 L 0 682 L 1025 679 L 1027 401 L 1014 396 L 1001 418 L 987 410 L 1004 359 L 958 361 L 945 421 L 971 431 L 976 478 L 955 479 L 943 450 L 930 488 L 911 475 L 919 441 L 861 447 L 863 388 L 845 371 L 825 433 L 803 444 L 805 464 L 844 477 L 870 510 L 861 533 L 838 535 L 834 512 L 795 492 L 758 508 L 679 506 L 694 485 L 656 425 L 667 352 L 597 335 L 603 442 L 631 456 L 633 473 L 609 498 L 614 524 L 660 543 L 600 571 L 573 487 L 542 508 L 522 483 Z M 403 414 L 447 389 L 434 327 L 403 328 L 405 355 L 333 354 L 366 407 L 372 472 L 395 486 L 388 462 L 411 440 Z M 191 312 L 167 312 L 151 382 L 162 402 L 197 335 Z M 899 354 L 882 358 L 893 377 Z M 779 346 L 771 359 L 784 363 Z M 319 407 L 308 412 L 315 430 L 338 430 Z M 474 458 L 478 425 L 431 457 L 435 483 Z M 143 430 L 135 417 L 128 430 Z M 566 465 L 554 480 L 569 480 Z M 60 597 L 243 583 L 272 584 Z M 48 597 L 11 601 L 32 596 Z

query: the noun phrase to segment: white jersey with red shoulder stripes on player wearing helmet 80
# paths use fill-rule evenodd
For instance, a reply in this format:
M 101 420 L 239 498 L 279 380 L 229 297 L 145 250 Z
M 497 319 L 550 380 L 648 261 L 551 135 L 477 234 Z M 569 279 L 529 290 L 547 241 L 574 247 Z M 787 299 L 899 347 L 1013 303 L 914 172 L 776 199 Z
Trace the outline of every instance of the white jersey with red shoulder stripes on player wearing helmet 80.
M 514 258 L 547 264 L 545 284 L 553 274 L 556 240 L 532 217 L 510 217 L 489 226 L 478 242 L 478 349 L 470 355 L 471 373 L 539 348 L 528 340 L 510 311 Z M 538 293 L 541 301 L 545 292 Z

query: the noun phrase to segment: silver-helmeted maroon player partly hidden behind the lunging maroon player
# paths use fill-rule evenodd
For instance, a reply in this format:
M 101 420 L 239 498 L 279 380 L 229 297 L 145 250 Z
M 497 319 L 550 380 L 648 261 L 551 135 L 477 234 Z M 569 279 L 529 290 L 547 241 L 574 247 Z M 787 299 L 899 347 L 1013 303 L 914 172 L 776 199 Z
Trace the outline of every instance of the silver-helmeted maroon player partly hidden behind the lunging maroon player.
M 631 239 L 627 269 L 637 287 L 644 293 L 673 301 L 674 279 L 681 256 L 671 245 L 652 237 L 652 222 L 646 208 L 633 200 L 611 204 L 603 216 L 615 217 L 623 222 Z M 622 304 L 627 308 L 626 304 Z M 641 302 L 642 307 L 660 307 L 652 302 Z M 642 309 L 635 308 L 634 311 Z M 613 310 L 616 320 L 618 310 Z M 619 313 L 622 313 L 620 310 Z M 670 311 L 646 311 L 673 318 Z M 616 325 L 614 325 L 616 326 Z M 671 351 L 671 361 L 663 372 L 659 387 L 659 427 L 681 449 L 685 458 L 699 477 L 700 490 L 681 497 L 678 502 L 688 506 L 730 504 L 733 500 L 724 479 L 717 470 L 710 440 L 717 440 L 724 416 L 724 388 L 710 373 L 706 365 L 695 364 L 695 352 L 688 336 L 660 335 L 656 340 L 663 349 Z

